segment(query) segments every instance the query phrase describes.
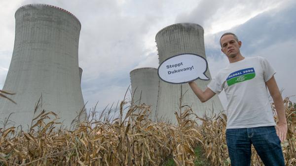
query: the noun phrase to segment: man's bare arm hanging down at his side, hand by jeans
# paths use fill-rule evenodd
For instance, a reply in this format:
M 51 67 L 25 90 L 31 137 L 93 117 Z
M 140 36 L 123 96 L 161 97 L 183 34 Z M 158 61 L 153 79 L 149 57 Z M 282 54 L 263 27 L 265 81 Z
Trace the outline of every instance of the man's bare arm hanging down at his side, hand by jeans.
M 272 78 L 265 83 L 273 99 L 273 103 L 276 109 L 276 114 L 279 119 L 278 123 L 276 124 L 276 134 L 278 135 L 278 137 L 282 142 L 286 139 L 287 130 L 288 130 L 283 98 L 277 86 L 277 83 L 274 79 L 274 76 L 272 76 Z

